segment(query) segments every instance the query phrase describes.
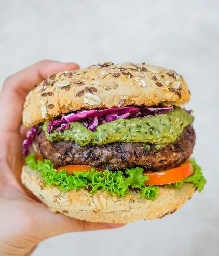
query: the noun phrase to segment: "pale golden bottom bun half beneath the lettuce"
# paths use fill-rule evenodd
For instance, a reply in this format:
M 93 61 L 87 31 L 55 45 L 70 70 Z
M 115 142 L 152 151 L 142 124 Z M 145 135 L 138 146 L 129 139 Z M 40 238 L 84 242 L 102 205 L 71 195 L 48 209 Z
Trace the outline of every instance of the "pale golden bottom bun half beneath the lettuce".
M 85 189 L 60 191 L 56 186 L 45 185 L 40 173 L 27 166 L 23 167 L 21 179 L 53 213 L 90 222 L 127 223 L 161 218 L 174 213 L 195 191 L 189 183 L 181 189 L 163 186 L 154 201 L 141 198 L 136 191 L 123 198 L 102 191 L 91 195 Z

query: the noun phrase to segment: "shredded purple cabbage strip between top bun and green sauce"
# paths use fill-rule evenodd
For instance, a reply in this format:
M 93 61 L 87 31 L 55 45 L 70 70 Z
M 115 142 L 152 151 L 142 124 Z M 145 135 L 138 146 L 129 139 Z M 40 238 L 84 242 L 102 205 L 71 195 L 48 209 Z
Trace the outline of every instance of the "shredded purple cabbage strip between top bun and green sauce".
M 98 125 L 112 122 L 120 118 L 128 117 L 139 117 L 147 118 L 153 116 L 154 114 L 162 114 L 173 109 L 172 107 L 117 107 L 117 108 L 107 108 L 102 110 L 83 110 L 75 113 L 63 114 L 61 119 L 55 119 L 49 122 L 47 127 L 47 132 L 51 133 L 55 128 L 57 131 L 64 131 L 69 129 L 68 123 L 80 121 L 90 129 L 95 131 Z

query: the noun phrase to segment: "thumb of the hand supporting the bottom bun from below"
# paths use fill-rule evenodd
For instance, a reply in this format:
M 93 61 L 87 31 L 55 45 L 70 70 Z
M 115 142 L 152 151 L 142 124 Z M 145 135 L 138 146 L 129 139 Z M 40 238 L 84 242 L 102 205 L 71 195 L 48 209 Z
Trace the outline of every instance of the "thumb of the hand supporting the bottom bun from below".
M 124 226 L 125 224 L 116 223 L 94 223 L 78 220 L 64 216 L 63 214 L 54 214 L 42 203 L 37 204 L 37 213 L 35 212 L 35 221 L 32 231 L 37 243 L 52 236 L 75 231 L 94 231 L 98 229 L 113 229 Z

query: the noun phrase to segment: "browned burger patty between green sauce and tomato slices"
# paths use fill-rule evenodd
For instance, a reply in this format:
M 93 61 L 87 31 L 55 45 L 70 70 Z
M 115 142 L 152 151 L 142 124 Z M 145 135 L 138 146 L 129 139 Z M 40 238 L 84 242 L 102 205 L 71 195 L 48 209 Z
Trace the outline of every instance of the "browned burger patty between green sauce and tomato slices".
M 154 145 L 141 142 L 116 142 L 84 147 L 75 142 L 49 142 L 43 131 L 35 138 L 40 153 L 55 167 L 64 165 L 91 165 L 109 170 L 144 167 L 152 171 L 175 167 L 189 158 L 195 145 L 195 131 L 189 125 L 174 143 L 157 150 Z M 149 149 L 149 150 L 148 150 Z

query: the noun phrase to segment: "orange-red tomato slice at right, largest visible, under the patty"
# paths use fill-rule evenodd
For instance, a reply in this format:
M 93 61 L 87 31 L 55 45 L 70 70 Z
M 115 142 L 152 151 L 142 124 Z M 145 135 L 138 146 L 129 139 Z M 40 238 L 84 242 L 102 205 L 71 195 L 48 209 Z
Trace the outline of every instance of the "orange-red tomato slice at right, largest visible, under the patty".
M 193 174 L 193 167 L 190 161 L 186 161 L 179 167 L 171 168 L 167 171 L 160 172 L 146 172 L 144 175 L 149 177 L 145 182 L 146 185 L 165 185 L 184 180 Z

